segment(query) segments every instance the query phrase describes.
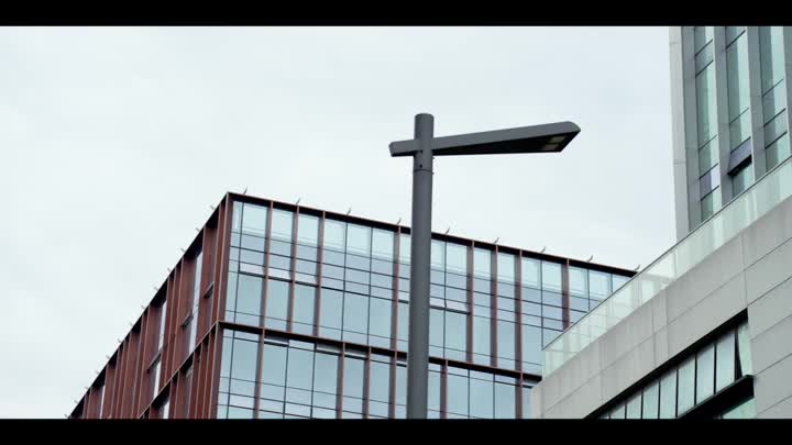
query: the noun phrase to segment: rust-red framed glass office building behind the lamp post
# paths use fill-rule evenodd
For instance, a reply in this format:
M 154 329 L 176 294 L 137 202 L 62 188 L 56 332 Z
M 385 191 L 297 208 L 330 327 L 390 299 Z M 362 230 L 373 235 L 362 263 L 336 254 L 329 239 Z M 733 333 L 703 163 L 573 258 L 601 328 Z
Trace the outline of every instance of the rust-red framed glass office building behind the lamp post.
M 72 412 L 404 418 L 409 229 L 229 193 Z M 543 345 L 632 271 L 432 235 L 429 416 L 526 418 Z

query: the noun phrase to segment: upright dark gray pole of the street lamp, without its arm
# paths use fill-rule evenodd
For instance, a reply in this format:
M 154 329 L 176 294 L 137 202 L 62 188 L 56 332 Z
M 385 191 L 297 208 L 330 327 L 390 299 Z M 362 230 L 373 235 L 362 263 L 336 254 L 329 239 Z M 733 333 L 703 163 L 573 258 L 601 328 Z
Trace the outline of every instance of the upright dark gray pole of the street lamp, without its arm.
M 410 307 L 407 351 L 407 419 L 426 419 L 429 386 L 429 260 L 431 255 L 432 152 L 435 118 L 417 114 L 413 155 Z

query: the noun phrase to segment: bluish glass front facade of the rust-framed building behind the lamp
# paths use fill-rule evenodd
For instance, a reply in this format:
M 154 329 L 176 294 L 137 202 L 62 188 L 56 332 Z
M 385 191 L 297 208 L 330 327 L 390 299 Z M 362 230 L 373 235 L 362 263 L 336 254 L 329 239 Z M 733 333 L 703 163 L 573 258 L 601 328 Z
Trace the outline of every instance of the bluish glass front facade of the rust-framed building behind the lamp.
M 261 385 L 261 393 L 266 388 L 266 393 L 285 396 L 258 397 L 256 404 L 251 402 L 254 392 L 233 392 L 229 386 L 219 415 L 318 418 L 338 411 L 342 418 L 404 416 L 406 363 L 397 357 L 407 352 L 409 235 L 242 202 L 234 202 L 233 215 L 223 316 L 267 330 L 263 356 L 252 358 L 262 364 L 262 380 L 237 380 L 253 381 L 250 388 Z M 463 243 L 431 244 L 430 415 L 514 418 L 517 400 L 529 402 L 521 388 L 532 386 L 541 372 L 542 346 L 629 276 Z M 298 342 L 290 334 L 314 340 Z M 238 342 L 257 342 L 229 335 L 223 357 L 226 344 L 237 351 Z M 322 341 L 337 342 L 340 349 L 329 352 Z M 387 354 L 367 353 L 367 347 Z M 340 382 L 324 381 L 317 392 L 307 375 L 294 388 L 265 379 L 271 364 L 282 374 L 278 363 L 287 364 L 283 372 L 288 379 L 292 357 L 300 360 L 301 371 L 320 360 L 321 369 L 336 369 Z M 482 374 L 475 365 L 496 370 Z M 228 385 L 235 381 L 232 374 L 223 377 Z M 389 385 L 393 397 L 383 392 Z

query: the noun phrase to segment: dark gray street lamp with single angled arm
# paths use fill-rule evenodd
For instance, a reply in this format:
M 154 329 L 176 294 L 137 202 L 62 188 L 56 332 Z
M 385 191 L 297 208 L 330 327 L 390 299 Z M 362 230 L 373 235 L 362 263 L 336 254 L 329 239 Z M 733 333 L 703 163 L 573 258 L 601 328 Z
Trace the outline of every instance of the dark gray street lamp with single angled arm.
M 407 418 L 427 418 L 429 381 L 429 260 L 435 156 L 559 153 L 580 133 L 572 122 L 435 137 L 435 118 L 415 116 L 415 138 L 391 143 L 391 156 L 413 156 Z

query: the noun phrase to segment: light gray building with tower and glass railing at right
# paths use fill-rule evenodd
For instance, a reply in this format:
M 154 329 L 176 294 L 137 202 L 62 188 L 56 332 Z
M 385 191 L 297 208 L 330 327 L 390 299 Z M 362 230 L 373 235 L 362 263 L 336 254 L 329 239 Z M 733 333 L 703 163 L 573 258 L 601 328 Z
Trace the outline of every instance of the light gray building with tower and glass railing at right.
M 792 418 L 791 32 L 670 30 L 679 242 L 544 348 L 534 418 Z

